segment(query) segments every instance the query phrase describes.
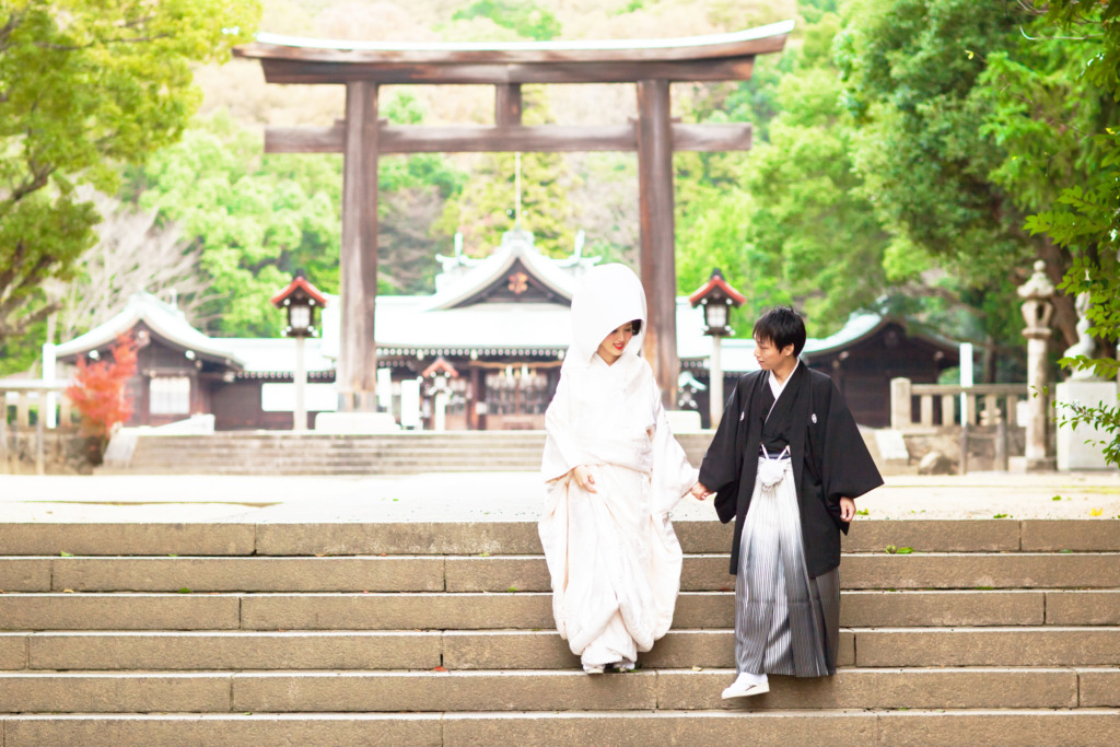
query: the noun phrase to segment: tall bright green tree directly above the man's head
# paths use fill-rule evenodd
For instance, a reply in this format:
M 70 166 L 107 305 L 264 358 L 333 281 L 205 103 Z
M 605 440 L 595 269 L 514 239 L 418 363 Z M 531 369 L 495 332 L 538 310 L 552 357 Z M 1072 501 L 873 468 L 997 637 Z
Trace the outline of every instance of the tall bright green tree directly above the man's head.
M 804 308 L 815 335 L 836 332 L 848 316 L 872 306 L 889 286 L 888 234 L 852 162 L 857 140 L 843 111 L 831 41 L 832 13 L 804 30 L 793 69 L 777 85 L 781 112 L 747 169 L 755 197 L 749 235 L 774 258 L 785 299 Z

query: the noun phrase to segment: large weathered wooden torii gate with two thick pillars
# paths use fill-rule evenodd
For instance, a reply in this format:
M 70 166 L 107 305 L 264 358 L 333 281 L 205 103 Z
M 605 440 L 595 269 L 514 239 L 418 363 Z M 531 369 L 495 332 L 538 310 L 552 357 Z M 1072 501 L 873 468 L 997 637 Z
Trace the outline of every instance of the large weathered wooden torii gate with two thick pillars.
M 646 360 L 670 405 L 676 389 L 676 265 L 673 151 L 750 148 L 749 124 L 682 124 L 671 119 L 670 83 L 746 81 L 756 55 L 781 52 L 793 21 L 678 39 L 512 44 L 392 44 L 259 34 L 234 49 L 261 60 L 268 83 L 346 86 L 346 118 L 330 128 L 268 128 L 265 152 L 340 152 L 343 166 L 339 410 L 373 412 L 377 352 L 377 157 L 380 153 L 637 151 L 641 277 L 648 300 Z M 635 83 L 636 122 L 521 123 L 526 83 Z M 494 125 L 391 127 L 377 118 L 377 90 L 393 84 L 486 84 Z

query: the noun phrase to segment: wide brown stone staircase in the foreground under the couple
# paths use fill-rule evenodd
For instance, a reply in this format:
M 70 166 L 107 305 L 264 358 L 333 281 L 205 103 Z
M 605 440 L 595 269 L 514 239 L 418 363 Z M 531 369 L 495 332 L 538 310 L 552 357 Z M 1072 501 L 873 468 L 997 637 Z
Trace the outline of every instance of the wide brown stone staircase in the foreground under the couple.
M 2 524 L 0 745 L 1120 744 L 1120 521 L 857 522 L 840 672 L 746 701 L 729 527 L 676 523 L 673 629 L 598 678 L 535 529 Z

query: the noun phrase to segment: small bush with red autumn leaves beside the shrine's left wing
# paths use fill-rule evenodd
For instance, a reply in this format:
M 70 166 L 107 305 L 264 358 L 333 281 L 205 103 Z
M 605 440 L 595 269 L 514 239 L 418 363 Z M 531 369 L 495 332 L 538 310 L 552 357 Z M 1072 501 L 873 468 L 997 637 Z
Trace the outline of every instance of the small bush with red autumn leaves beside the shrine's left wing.
M 121 335 L 110 348 L 112 360 L 90 363 L 77 361 L 74 383 L 66 396 L 82 413 L 82 432 L 108 441 L 116 423 L 132 417 L 132 398 L 128 382 L 137 372 L 137 344 L 129 334 Z

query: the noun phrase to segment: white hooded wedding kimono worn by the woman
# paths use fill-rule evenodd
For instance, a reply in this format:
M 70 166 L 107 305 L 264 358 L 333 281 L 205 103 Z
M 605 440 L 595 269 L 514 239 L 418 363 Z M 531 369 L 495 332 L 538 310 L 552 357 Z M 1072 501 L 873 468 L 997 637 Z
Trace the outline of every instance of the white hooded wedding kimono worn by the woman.
M 634 662 L 669 629 L 681 547 L 669 511 L 696 483 L 673 439 L 650 365 L 640 357 L 645 293 L 620 264 L 591 269 L 572 298 L 572 343 L 545 414 L 541 544 L 557 628 L 585 666 Z M 613 365 L 599 343 L 642 329 Z M 571 470 L 587 466 L 589 493 Z

